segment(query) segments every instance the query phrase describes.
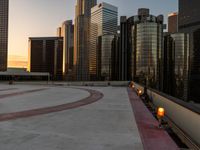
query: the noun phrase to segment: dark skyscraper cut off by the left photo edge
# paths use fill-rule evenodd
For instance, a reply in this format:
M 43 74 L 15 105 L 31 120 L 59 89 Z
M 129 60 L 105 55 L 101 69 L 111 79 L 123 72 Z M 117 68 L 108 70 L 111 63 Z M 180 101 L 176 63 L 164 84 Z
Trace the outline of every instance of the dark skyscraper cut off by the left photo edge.
M 0 71 L 7 70 L 9 0 L 0 0 Z

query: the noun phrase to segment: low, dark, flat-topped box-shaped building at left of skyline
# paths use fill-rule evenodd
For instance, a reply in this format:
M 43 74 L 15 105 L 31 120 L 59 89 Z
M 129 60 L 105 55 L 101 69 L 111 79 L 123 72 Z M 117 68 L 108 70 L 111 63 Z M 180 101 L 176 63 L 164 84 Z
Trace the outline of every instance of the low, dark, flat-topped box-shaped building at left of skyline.
M 29 38 L 28 71 L 48 72 L 54 80 L 63 79 L 63 38 Z

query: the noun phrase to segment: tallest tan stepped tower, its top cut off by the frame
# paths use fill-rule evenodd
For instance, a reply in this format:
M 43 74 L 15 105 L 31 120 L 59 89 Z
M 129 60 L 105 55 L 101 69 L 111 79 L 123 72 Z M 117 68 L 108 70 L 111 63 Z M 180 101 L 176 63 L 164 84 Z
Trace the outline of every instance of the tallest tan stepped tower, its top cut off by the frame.
M 89 80 L 89 32 L 91 8 L 97 0 L 77 0 L 74 24 L 74 76 L 76 80 Z

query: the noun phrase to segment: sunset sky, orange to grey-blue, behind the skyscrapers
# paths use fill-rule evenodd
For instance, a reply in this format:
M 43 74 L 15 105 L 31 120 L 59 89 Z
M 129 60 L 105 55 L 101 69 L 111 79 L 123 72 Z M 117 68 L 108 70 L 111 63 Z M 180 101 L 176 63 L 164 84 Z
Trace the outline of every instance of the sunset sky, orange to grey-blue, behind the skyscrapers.
M 102 2 L 99 0 L 98 2 Z M 104 0 L 119 8 L 119 16 L 136 15 L 138 8 L 150 8 L 151 14 L 177 11 L 177 0 Z M 55 36 L 56 28 L 74 19 L 76 0 L 10 0 L 9 66 L 24 67 L 28 57 L 28 37 Z M 23 65 L 19 63 L 22 62 Z M 17 63 L 18 62 L 18 63 Z

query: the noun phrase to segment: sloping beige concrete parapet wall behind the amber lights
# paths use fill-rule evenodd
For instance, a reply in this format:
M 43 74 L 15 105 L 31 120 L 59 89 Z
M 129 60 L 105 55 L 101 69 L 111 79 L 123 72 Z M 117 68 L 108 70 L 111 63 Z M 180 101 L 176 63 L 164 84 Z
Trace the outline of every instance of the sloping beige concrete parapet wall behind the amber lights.
M 136 89 L 144 92 L 144 87 L 134 83 Z M 147 89 L 147 94 L 156 107 L 165 108 L 165 113 L 184 133 L 200 145 L 200 110 L 189 109 L 189 103 L 158 91 Z M 188 106 L 188 107 L 185 107 Z

